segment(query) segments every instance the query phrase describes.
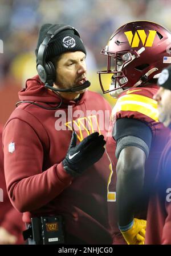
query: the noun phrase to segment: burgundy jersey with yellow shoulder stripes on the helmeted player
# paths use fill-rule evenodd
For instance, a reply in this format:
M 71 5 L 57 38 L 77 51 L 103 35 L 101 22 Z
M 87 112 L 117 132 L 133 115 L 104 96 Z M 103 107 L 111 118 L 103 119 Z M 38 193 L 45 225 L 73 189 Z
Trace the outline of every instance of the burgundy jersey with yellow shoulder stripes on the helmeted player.
M 116 105 L 112 110 L 111 124 L 109 129 L 109 136 L 107 138 L 107 154 L 111 161 L 111 174 L 108 182 L 108 207 L 109 219 L 113 233 L 117 233 L 116 229 L 116 165 L 117 159 L 115 157 L 116 141 L 112 137 L 112 129 L 114 123 L 120 118 L 133 118 L 144 122 L 152 131 L 152 143 L 148 158 L 145 162 L 145 177 L 144 177 L 144 198 L 140 206 L 137 207 L 139 214 L 136 217 L 146 217 L 146 206 L 148 202 L 148 195 L 153 183 L 154 177 L 158 169 L 158 162 L 162 150 L 166 145 L 168 139 L 169 129 L 166 129 L 162 123 L 158 122 L 157 102 L 154 101 L 153 95 L 158 90 L 157 85 L 150 85 L 146 87 L 137 87 L 124 91 Z M 123 127 L 127 129 L 127 127 Z M 142 214 L 140 214 L 142 213 Z M 115 227 L 115 228 L 114 228 Z M 115 243 L 115 242 L 114 242 Z

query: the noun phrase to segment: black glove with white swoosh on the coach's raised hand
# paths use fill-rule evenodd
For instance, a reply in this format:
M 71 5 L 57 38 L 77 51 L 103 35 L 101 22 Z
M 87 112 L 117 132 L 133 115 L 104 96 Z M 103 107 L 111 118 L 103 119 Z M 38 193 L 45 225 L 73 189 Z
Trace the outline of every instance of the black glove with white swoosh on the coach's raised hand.
M 73 177 L 82 174 L 93 163 L 99 161 L 105 151 L 104 136 L 97 132 L 88 135 L 78 145 L 76 141 L 77 135 L 73 131 L 66 158 L 63 160 L 64 169 Z

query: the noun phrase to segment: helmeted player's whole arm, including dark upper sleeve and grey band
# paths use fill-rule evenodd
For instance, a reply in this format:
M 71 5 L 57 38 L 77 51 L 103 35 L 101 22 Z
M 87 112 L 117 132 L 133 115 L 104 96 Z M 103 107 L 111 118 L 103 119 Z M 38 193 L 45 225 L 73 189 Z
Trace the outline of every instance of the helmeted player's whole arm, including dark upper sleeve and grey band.
M 135 207 L 143 188 L 144 166 L 149 154 L 152 132 L 144 122 L 137 119 L 121 118 L 115 123 L 113 137 L 117 141 L 118 221 L 119 227 L 123 227 L 123 231 L 127 231 L 135 225 Z M 136 225 L 139 225 L 139 221 L 136 222 Z

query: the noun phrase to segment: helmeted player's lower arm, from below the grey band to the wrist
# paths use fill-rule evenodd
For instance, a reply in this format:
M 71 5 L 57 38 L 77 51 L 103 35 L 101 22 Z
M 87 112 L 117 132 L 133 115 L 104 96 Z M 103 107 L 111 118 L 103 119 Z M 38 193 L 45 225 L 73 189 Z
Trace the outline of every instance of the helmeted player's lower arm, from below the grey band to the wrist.
M 144 181 L 145 153 L 139 147 L 121 150 L 116 171 L 117 213 L 120 226 L 128 225 L 134 218 L 136 201 L 141 195 Z

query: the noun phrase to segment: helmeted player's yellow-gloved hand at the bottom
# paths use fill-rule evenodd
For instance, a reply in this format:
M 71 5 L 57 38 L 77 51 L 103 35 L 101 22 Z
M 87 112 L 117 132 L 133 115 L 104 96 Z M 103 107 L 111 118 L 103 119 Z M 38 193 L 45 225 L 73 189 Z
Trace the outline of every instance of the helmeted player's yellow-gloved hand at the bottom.
M 127 231 L 121 231 L 128 245 L 144 245 L 146 221 L 144 219 L 133 219 L 133 226 Z

